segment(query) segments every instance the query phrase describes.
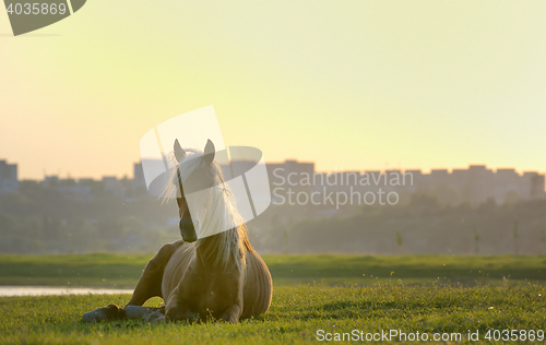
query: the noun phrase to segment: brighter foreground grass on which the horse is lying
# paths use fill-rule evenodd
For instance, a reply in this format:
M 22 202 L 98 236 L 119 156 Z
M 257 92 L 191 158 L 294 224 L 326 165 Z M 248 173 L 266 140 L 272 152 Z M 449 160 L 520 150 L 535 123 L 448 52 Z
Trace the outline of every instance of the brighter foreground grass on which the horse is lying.
M 299 344 L 316 343 L 317 331 L 406 333 L 545 330 L 543 285 L 458 287 L 322 284 L 275 287 L 270 311 L 239 324 L 144 324 L 110 321 L 84 324 L 84 312 L 129 295 L 0 298 L 0 343 L 50 344 Z M 158 305 L 154 299 L 149 305 Z M 431 336 L 431 335 L 430 335 Z M 396 338 L 393 338 L 395 341 Z

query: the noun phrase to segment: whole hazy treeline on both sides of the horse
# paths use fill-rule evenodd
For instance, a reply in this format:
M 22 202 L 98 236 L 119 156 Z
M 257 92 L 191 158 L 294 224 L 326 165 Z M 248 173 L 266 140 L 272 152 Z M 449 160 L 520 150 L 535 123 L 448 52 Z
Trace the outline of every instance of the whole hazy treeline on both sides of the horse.
M 271 205 L 248 223 L 266 253 L 546 254 L 546 201 L 458 206 L 415 193 L 396 205 Z M 95 188 L 78 199 L 35 181 L 0 195 L 0 252 L 153 252 L 180 238 L 175 202 Z

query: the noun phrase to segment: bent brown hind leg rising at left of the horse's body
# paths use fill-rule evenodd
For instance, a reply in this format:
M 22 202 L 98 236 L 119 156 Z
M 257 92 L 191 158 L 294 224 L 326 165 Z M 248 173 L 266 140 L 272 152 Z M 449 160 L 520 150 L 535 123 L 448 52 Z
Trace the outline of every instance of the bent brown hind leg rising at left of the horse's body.
M 144 272 L 134 288 L 133 296 L 127 306 L 142 306 L 146 300 L 152 297 L 162 296 L 162 282 L 165 266 L 169 261 L 173 253 L 185 243 L 183 240 L 177 240 L 171 243 L 164 245 L 162 249 L 150 260 L 146 264 Z

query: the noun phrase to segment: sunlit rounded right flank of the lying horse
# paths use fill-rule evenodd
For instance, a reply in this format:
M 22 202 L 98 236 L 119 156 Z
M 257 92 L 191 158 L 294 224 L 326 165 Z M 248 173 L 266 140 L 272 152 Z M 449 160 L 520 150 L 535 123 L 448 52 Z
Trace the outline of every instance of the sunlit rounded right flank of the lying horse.
M 262 258 L 254 250 L 247 251 L 247 276 L 241 318 L 250 318 L 268 311 L 271 305 L 273 282 Z

